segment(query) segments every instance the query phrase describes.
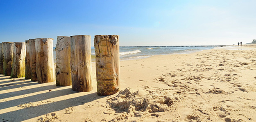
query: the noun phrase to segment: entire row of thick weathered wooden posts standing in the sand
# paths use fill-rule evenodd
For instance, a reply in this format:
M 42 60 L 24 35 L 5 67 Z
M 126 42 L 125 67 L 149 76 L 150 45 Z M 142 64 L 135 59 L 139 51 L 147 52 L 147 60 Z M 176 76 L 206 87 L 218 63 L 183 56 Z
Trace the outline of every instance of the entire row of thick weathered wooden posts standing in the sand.
M 97 94 L 120 90 L 119 36 L 95 35 Z M 11 78 L 25 77 L 38 83 L 56 81 L 56 86 L 72 85 L 72 90 L 88 92 L 92 87 L 91 36 L 58 36 L 54 70 L 53 39 L 0 44 L 0 73 Z

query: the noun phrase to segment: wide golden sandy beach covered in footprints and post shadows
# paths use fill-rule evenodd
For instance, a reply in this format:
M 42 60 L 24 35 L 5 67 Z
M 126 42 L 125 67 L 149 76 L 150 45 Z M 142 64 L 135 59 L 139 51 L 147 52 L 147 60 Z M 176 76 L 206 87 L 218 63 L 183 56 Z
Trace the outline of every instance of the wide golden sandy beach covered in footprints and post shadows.
M 0 122 L 255 122 L 256 45 L 120 61 L 121 91 L 97 96 L 0 76 Z

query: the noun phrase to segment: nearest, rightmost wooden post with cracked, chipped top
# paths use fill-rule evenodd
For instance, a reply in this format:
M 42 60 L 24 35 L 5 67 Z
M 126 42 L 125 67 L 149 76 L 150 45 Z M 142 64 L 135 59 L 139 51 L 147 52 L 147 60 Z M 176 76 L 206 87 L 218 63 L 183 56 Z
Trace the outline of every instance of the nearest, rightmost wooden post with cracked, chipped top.
M 97 94 L 115 94 L 120 90 L 119 36 L 95 35 Z

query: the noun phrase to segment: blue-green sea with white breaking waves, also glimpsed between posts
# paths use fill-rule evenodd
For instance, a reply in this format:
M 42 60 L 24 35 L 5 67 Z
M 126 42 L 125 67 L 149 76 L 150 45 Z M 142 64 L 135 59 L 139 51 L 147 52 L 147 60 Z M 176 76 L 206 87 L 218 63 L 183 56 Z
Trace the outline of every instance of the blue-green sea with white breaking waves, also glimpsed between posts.
M 132 60 L 132 59 L 143 59 L 154 55 L 165 55 L 165 54 L 187 54 L 196 51 L 213 49 L 215 47 L 120 47 L 120 60 Z M 56 62 L 55 47 L 54 52 L 54 63 Z M 91 47 L 92 62 L 95 61 L 95 50 Z

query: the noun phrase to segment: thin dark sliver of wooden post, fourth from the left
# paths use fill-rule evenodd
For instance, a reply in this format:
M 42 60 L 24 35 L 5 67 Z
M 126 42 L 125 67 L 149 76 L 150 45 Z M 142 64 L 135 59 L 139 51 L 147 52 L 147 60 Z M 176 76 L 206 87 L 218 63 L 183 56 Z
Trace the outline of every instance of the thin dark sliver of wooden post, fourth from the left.
M 30 68 L 30 58 L 29 58 L 29 51 L 30 51 L 30 45 L 29 45 L 29 40 L 26 40 L 26 58 L 25 58 L 25 79 L 31 79 L 31 68 Z

